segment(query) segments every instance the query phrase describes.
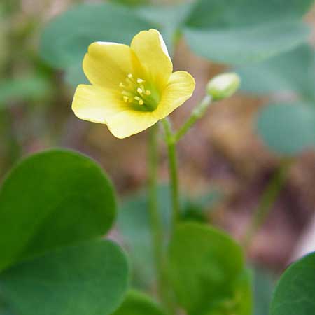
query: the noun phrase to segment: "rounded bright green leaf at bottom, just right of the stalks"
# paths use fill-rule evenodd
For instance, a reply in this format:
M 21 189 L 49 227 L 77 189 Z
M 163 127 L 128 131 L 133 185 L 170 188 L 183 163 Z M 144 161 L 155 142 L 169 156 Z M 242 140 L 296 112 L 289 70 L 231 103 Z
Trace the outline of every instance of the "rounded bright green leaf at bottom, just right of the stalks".
M 251 314 L 251 289 L 241 247 L 224 232 L 181 223 L 169 244 L 176 298 L 189 314 Z

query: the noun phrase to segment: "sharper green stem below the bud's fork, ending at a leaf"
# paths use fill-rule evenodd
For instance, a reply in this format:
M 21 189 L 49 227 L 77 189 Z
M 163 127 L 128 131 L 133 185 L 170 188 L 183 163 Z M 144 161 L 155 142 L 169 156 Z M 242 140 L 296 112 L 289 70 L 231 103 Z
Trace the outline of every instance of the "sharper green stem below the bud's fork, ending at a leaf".
M 180 217 L 179 205 L 179 175 L 177 170 L 176 141 L 172 132 L 170 121 L 165 118 L 162 120 L 165 129 L 165 139 L 167 142 L 167 153 L 169 158 L 169 176 L 172 190 L 172 230 Z

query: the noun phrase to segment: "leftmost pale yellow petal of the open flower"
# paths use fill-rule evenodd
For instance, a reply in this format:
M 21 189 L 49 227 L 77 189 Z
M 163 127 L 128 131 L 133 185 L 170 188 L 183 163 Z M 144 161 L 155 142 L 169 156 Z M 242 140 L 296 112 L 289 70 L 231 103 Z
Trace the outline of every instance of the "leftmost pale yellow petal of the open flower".
M 120 94 L 95 85 L 78 85 L 72 102 L 76 116 L 93 123 L 106 124 L 109 117 L 126 109 Z

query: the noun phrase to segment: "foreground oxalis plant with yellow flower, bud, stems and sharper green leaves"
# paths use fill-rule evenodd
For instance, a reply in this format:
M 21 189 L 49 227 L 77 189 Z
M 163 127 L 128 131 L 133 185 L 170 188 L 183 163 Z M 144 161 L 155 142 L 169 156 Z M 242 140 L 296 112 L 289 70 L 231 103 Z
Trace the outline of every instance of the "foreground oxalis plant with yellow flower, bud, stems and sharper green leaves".
M 132 262 L 116 241 L 103 237 L 117 203 L 102 169 L 72 151 L 44 151 L 22 160 L 1 188 L 0 314 L 253 314 L 252 273 L 241 245 L 184 217 L 176 158 L 176 144 L 211 104 L 235 93 L 239 76 L 210 80 L 200 104 L 175 131 L 168 116 L 190 98 L 195 80 L 186 71 L 173 72 L 159 31 L 141 31 L 130 46 L 92 43 L 83 70 L 91 84 L 78 85 L 74 94 L 78 118 L 105 124 L 118 138 L 150 128 L 147 211 L 156 286 L 148 293 L 133 290 Z M 158 208 L 159 134 L 169 158 L 169 229 Z M 310 254 L 286 270 L 270 315 L 314 314 L 314 267 Z

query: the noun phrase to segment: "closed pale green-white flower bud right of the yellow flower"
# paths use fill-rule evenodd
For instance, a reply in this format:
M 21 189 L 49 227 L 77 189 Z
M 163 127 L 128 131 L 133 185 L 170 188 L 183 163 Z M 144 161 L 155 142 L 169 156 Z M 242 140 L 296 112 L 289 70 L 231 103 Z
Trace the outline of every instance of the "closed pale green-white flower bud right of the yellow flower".
M 222 73 L 218 76 L 212 78 L 207 85 L 207 93 L 214 99 L 218 101 L 219 99 L 225 99 L 232 96 L 239 85 L 241 84 L 241 78 L 237 73 Z

